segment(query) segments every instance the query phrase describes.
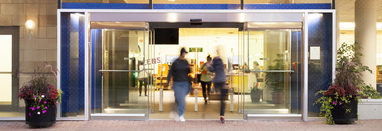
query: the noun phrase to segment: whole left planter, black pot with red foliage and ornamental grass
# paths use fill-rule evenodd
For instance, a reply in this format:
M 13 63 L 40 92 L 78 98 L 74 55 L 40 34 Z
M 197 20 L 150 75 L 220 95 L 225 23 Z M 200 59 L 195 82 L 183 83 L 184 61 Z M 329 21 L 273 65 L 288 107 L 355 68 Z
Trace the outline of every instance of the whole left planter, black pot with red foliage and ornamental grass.
M 20 73 L 24 71 L 21 70 Z M 44 63 L 44 68 L 34 69 L 23 87 L 19 89 L 19 99 L 23 99 L 25 107 L 25 123 L 32 127 L 52 126 L 56 123 L 56 104 L 61 102 L 62 91 L 51 84 L 57 80 L 57 68 Z M 59 73 L 59 72 L 58 72 Z M 18 75 L 18 76 L 19 76 Z

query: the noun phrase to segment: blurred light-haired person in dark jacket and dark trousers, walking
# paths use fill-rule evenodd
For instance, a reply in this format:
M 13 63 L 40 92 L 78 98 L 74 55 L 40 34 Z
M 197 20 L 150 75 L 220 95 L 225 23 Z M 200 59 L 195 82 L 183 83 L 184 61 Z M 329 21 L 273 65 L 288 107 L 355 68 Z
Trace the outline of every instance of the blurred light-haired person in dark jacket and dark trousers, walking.
M 217 47 L 216 52 L 222 53 L 223 49 L 221 46 Z M 224 74 L 224 65 L 223 65 L 223 60 L 218 56 L 215 57 L 212 60 L 212 65 L 205 65 L 211 72 L 215 72 L 215 78 L 214 78 L 214 87 L 215 89 L 220 90 L 220 123 L 225 123 L 224 119 L 224 113 L 225 113 L 225 94 L 227 94 L 228 89 L 225 86 L 225 74 Z

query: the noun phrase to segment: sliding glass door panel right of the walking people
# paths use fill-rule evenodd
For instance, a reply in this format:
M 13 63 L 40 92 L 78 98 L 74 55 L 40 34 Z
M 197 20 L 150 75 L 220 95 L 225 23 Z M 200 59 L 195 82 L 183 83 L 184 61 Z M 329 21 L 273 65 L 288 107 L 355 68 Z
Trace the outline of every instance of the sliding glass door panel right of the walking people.
M 301 114 L 301 29 L 249 29 L 246 114 Z

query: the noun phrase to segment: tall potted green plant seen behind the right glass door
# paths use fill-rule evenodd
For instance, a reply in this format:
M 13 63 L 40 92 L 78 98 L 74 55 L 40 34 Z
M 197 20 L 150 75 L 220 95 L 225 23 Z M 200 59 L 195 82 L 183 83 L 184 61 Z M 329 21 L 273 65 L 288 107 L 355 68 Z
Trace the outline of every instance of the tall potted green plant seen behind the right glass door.
M 278 59 L 273 60 L 274 65 L 268 66 L 269 71 L 282 71 L 285 69 L 284 55 L 276 54 Z M 274 104 L 284 103 L 284 79 L 283 72 L 268 72 L 265 74 L 265 86 L 272 90 L 272 101 Z

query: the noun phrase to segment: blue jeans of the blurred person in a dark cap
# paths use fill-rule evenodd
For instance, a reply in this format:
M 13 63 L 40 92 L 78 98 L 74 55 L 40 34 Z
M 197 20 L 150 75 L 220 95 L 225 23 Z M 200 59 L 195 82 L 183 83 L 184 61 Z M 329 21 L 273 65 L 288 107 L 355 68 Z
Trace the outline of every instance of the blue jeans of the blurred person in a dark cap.
M 185 113 L 186 102 L 185 97 L 190 91 L 190 86 L 188 81 L 174 81 L 172 89 L 175 95 L 175 104 L 178 105 L 179 116 L 183 116 Z

